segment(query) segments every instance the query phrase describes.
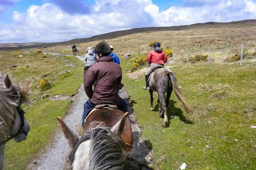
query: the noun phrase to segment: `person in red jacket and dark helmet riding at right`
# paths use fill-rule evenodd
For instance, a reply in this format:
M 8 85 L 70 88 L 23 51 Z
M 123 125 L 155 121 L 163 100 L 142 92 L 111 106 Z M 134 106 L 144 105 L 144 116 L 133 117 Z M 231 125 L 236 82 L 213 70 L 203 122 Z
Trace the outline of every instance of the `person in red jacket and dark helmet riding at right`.
M 167 62 L 167 57 L 165 52 L 160 48 L 159 42 L 154 42 L 152 51 L 148 54 L 148 63 L 150 64 L 150 67 L 148 68 L 146 74 L 145 74 L 145 80 L 146 80 L 146 86 L 143 87 L 144 90 L 150 90 L 149 88 L 149 82 L 148 78 L 151 73 L 157 68 L 163 68 L 164 63 Z

